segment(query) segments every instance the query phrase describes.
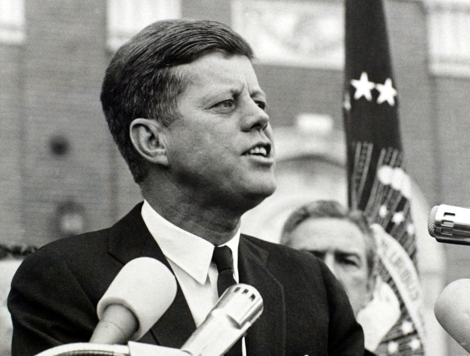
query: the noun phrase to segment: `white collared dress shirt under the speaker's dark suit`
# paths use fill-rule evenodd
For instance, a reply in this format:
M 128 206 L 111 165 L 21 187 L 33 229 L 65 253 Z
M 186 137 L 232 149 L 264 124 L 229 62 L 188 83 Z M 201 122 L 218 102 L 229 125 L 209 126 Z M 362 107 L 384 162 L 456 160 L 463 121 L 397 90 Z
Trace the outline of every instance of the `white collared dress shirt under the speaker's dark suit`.
M 189 233 L 158 214 L 144 200 L 142 218 L 150 234 L 162 249 L 178 280 L 196 327 L 199 326 L 218 300 L 217 267 L 212 260 L 214 245 Z M 232 250 L 234 278 L 238 283 L 238 241 L 240 230 L 226 245 Z M 242 352 L 246 355 L 245 340 Z

